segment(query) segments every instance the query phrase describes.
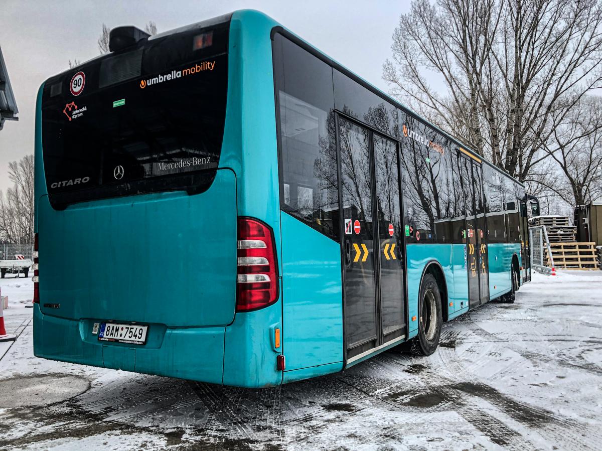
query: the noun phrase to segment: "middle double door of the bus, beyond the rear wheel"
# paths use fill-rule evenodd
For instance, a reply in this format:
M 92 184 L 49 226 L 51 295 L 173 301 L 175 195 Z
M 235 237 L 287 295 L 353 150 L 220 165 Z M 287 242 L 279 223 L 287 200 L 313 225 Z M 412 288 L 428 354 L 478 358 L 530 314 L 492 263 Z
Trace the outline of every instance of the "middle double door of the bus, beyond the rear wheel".
M 466 242 L 468 267 L 468 305 L 475 308 L 489 300 L 489 268 L 487 257 L 487 226 L 485 199 L 483 198 L 483 172 L 481 164 L 459 155 L 462 173 L 462 190 L 466 226 L 463 232 Z

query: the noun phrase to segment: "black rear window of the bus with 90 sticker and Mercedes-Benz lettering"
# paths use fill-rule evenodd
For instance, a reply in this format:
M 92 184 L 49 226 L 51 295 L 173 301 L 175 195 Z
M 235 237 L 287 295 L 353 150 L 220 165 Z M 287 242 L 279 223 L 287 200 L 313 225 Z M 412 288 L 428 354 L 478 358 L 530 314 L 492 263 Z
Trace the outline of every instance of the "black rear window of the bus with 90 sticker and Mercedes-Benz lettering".
M 156 191 L 206 190 L 222 148 L 229 22 L 140 43 L 49 79 L 46 184 L 55 208 Z M 199 36 L 211 36 L 200 40 Z

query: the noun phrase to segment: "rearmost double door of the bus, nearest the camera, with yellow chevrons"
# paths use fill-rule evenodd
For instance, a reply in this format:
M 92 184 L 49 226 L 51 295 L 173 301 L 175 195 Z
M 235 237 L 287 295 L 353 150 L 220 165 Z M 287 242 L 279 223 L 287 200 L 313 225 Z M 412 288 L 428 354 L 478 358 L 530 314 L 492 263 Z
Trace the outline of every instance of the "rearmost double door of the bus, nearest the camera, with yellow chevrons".
M 405 241 L 399 142 L 337 116 L 347 359 L 402 337 Z

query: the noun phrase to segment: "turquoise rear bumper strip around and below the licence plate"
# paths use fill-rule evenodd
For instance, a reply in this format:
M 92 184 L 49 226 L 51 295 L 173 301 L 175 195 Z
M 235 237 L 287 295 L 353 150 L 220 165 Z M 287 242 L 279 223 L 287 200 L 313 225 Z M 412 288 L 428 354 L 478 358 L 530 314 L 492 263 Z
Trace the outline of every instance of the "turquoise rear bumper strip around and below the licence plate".
M 45 315 L 34 305 L 34 355 L 51 360 L 222 384 L 225 327 L 166 328 L 147 344 L 98 341 L 90 320 Z

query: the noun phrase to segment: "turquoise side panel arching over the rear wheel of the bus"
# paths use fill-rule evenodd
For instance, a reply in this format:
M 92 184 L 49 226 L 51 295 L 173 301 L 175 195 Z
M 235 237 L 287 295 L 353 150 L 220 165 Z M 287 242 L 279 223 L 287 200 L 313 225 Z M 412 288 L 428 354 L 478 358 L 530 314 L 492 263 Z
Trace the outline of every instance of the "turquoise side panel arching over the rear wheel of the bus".
M 424 267 L 431 261 L 437 261 L 445 276 L 447 290 L 453 290 L 452 244 L 408 244 L 406 247 L 408 260 L 408 338 L 418 335 L 418 297 Z M 447 302 L 448 314 L 454 307 Z M 450 311 L 452 309 L 452 311 Z M 412 318 L 416 317 L 416 320 Z

